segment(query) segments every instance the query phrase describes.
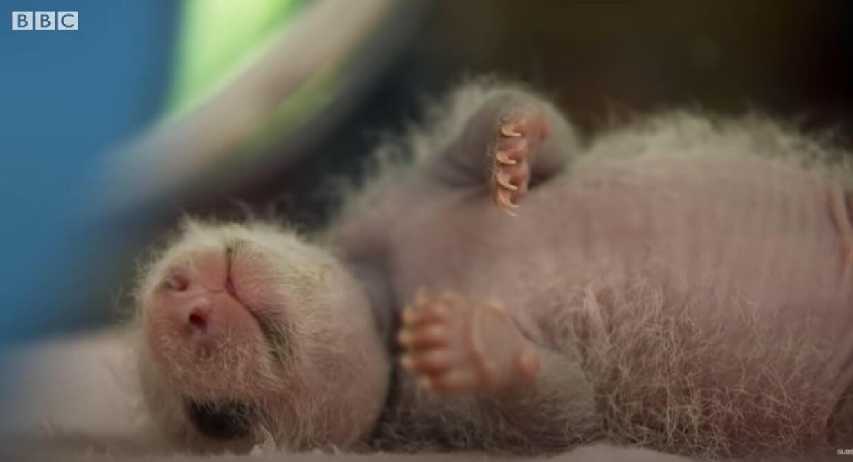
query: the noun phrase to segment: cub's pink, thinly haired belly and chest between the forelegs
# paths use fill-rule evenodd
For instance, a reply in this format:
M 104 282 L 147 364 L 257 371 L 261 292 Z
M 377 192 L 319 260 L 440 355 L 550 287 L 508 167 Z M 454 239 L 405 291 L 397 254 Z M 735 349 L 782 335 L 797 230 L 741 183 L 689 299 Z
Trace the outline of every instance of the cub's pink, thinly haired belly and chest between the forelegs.
M 635 167 L 555 178 L 517 218 L 438 198 L 398 234 L 397 296 L 500 300 L 543 339 L 579 338 L 602 389 L 628 401 L 733 410 L 717 424 L 826 418 L 853 378 L 832 188 L 761 161 Z

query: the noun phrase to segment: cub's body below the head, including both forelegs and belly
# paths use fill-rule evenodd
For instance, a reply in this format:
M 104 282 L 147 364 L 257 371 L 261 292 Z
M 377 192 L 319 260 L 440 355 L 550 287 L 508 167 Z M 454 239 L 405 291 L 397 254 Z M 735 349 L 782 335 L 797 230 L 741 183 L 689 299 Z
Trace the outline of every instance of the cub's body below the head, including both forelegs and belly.
M 415 167 L 330 231 L 380 313 L 409 307 L 381 444 L 543 453 L 607 437 L 712 459 L 850 441 L 850 217 L 833 173 L 850 175 L 824 147 L 685 113 L 580 147 L 512 86 L 447 107 L 432 144 L 416 134 Z M 537 122 L 508 128 L 519 113 Z M 502 172 L 511 149 L 529 175 Z

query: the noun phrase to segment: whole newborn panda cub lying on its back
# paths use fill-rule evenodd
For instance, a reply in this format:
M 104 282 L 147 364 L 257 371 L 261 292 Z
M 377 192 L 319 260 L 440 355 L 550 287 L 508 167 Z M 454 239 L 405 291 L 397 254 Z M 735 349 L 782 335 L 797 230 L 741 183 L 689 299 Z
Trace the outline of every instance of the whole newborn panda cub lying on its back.
M 176 442 L 735 458 L 851 441 L 834 149 L 686 113 L 581 146 L 501 84 L 433 109 L 322 235 L 187 220 L 142 272 L 140 376 Z

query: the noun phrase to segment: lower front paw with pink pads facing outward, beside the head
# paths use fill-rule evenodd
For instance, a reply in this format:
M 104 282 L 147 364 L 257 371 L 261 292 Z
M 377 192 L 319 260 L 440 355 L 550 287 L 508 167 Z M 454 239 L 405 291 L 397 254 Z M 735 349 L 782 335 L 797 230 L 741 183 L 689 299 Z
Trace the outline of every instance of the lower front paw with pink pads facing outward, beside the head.
M 496 304 L 468 303 L 443 293 L 419 292 L 403 311 L 398 341 L 403 367 L 421 385 L 444 394 L 505 390 L 527 384 L 539 372 L 537 350 Z

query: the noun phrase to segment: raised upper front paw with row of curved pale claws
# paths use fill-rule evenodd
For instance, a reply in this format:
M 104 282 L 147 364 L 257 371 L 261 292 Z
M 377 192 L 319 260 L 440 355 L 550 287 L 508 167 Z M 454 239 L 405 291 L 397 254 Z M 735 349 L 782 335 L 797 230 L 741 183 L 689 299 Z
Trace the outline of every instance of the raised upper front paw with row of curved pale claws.
M 490 183 L 495 203 L 512 217 L 527 193 L 533 156 L 548 131 L 548 119 L 536 110 L 515 109 L 498 119 Z

